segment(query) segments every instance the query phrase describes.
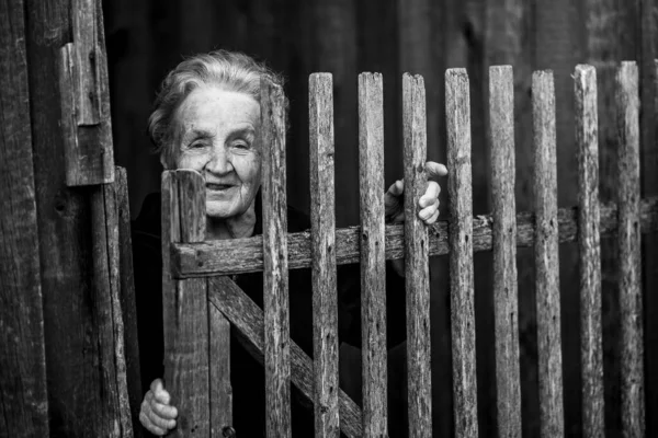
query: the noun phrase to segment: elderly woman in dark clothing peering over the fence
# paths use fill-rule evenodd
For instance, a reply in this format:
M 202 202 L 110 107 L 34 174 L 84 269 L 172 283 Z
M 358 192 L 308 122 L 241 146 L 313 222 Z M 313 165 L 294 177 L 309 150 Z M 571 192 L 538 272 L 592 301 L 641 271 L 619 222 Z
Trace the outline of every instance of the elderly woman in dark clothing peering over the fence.
M 149 119 L 149 132 L 164 169 L 193 169 L 206 183 L 207 239 L 248 238 L 262 232 L 260 182 L 260 81 L 282 83 L 282 78 L 248 56 L 214 51 L 181 62 L 162 83 Z M 430 176 L 446 174 L 443 165 L 428 162 Z M 439 216 L 439 184 L 430 182 L 419 200 L 419 217 L 433 223 Z M 399 197 L 402 182 L 386 193 L 386 212 L 404 220 Z M 152 382 L 141 404 L 139 419 L 155 435 L 175 427 L 177 410 L 162 381 L 162 311 L 160 200 L 149 195 L 133 224 L 135 285 L 141 346 L 141 372 Z M 288 232 L 309 228 L 305 215 L 288 208 Z M 405 298 L 399 266 L 387 269 L 388 346 L 404 343 Z M 262 274 L 240 275 L 237 284 L 262 308 Z M 360 277 L 358 266 L 338 272 L 339 342 L 342 347 L 360 346 Z M 291 337 L 313 355 L 313 307 L 309 269 L 290 272 Z M 404 355 L 398 355 L 404 361 Z M 264 383 L 262 367 L 239 344 L 231 343 L 234 426 L 238 436 L 262 436 L 264 431 Z M 395 357 L 395 356 L 394 356 Z M 342 367 L 344 371 L 345 367 Z M 353 371 L 352 371 L 353 372 Z M 359 373 L 359 371 L 355 371 Z M 392 388 L 402 388 L 392 376 Z M 343 378 L 344 381 L 354 379 Z M 356 379 L 358 380 L 358 379 Z M 398 391 L 401 392 L 401 391 Z M 358 393 L 352 391 L 354 396 Z M 392 402 L 402 400 L 392 394 Z M 293 397 L 295 401 L 295 397 Z M 359 400 L 358 400 L 359 402 Z M 313 436 L 313 412 L 293 402 L 295 436 Z M 406 411 L 406 410 L 398 410 Z M 395 417 L 394 417 L 395 418 Z M 404 423 L 400 419 L 398 423 Z M 394 428 L 396 428 L 394 426 Z M 400 427 L 404 429 L 404 427 Z

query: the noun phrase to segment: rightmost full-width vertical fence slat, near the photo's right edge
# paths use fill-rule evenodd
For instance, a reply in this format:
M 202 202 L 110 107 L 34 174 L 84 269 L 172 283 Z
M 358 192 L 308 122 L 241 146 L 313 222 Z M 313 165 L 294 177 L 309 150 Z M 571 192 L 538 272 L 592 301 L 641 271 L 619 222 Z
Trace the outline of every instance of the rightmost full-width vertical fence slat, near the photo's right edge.
M 617 69 L 619 255 L 622 323 L 622 427 L 643 437 L 644 374 L 639 230 L 639 96 L 635 62 Z

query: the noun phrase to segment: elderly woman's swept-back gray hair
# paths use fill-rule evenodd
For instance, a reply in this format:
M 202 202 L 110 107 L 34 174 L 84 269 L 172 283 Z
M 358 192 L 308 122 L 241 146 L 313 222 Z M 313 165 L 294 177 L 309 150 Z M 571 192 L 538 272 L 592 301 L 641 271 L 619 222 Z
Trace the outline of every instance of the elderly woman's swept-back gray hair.
M 252 96 L 260 103 L 261 78 L 283 85 L 283 77 L 264 64 L 237 51 L 216 50 L 183 60 L 167 74 L 148 118 L 148 132 L 155 152 L 166 168 L 173 168 L 173 116 L 188 95 L 201 85 L 219 87 Z

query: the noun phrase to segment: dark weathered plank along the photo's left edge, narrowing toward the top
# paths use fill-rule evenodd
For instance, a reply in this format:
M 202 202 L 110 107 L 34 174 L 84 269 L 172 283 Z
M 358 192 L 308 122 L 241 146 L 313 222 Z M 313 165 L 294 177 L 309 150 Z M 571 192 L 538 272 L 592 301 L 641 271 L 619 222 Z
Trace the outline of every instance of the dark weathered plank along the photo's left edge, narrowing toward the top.
M 24 4 L 0 2 L 0 437 L 48 437 Z

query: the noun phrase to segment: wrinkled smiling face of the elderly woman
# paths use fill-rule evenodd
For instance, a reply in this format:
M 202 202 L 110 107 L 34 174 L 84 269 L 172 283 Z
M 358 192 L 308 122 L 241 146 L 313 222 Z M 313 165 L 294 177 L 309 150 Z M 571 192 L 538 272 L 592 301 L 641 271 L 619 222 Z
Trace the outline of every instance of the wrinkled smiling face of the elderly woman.
M 207 216 L 227 219 L 247 211 L 261 181 L 258 102 L 245 93 L 200 87 L 180 105 L 173 123 L 177 169 L 205 177 Z

